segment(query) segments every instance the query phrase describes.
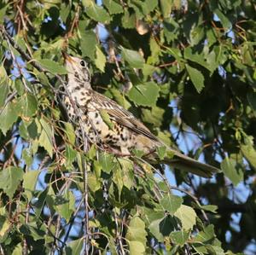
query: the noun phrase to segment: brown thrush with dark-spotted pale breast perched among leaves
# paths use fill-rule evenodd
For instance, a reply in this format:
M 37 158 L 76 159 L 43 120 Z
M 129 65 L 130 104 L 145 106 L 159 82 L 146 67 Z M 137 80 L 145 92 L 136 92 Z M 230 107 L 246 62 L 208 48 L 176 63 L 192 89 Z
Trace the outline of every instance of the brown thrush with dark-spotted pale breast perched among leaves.
M 91 143 L 100 144 L 119 156 L 129 156 L 134 150 L 141 151 L 149 161 L 159 160 L 156 151 L 165 147 L 168 153 L 160 163 L 200 177 L 212 177 L 212 174 L 219 172 L 217 167 L 166 146 L 131 112 L 92 89 L 87 61 L 65 52 L 62 55 L 67 69 L 67 96 L 64 98 L 67 116 L 73 123 L 78 123 L 80 119 L 79 129 L 83 129 Z

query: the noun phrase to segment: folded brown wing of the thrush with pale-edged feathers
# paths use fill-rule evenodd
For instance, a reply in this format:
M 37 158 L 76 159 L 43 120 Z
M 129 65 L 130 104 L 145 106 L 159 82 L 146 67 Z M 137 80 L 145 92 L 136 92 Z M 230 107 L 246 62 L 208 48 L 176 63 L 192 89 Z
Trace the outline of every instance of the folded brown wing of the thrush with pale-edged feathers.
M 159 142 L 158 138 L 154 136 L 143 123 L 136 119 L 132 113 L 125 110 L 125 108 L 119 106 L 119 104 L 109 99 L 107 96 L 103 96 L 95 91 L 93 91 L 92 95 L 92 99 L 96 101 L 99 110 L 107 111 L 110 119 L 113 119 L 113 121 L 117 122 L 119 125 L 124 125 L 133 130 L 137 134 L 148 136 L 148 138 Z

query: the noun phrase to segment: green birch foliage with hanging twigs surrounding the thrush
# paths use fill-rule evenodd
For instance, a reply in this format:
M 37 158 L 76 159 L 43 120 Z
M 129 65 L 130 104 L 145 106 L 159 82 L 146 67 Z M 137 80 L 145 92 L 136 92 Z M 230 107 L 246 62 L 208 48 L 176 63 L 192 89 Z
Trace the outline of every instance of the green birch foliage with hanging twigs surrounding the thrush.
M 0 253 L 253 254 L 255 16 L 249 0 L 1 0 Z M 84 153 L 61 110 L 62 49 L 90 61 L 95 90 L 223 172 Z

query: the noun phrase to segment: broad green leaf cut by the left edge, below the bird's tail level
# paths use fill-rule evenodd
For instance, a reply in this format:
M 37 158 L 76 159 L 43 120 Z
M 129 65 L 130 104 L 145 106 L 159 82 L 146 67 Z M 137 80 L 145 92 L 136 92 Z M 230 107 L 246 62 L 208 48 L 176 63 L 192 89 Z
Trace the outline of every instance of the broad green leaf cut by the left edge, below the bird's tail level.
M 23 179 L 24 172 L 20 167 L 9 166 L 0 171 L 0 188 L 11 199 L 18 188 L 20 181 Z

